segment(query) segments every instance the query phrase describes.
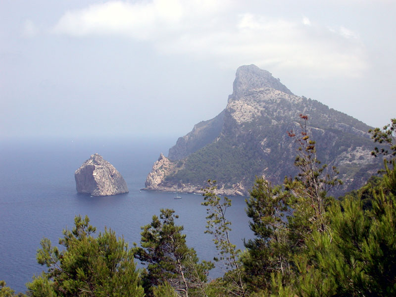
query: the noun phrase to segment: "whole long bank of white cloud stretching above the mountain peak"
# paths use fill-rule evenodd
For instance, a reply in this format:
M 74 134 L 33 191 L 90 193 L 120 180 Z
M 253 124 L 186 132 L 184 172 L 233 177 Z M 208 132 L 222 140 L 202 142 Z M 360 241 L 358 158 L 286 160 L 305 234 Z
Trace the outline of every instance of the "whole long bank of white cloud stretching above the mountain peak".
M 232 0 L 109 1 L 66 12 L 52 28 L 71 36 L 121 35 L 152 43 L 160 52 L 243 63 L 312 76 L 362 75 L 367 67 L 358 34 L 301 21 L 275 19 Z

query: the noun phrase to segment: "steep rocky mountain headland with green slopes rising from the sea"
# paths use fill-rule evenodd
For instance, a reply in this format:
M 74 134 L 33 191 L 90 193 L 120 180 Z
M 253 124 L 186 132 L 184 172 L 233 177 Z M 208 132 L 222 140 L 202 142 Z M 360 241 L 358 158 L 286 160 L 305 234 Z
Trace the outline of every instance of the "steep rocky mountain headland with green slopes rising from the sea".
M 381 160 L 370 155 L 369 126 L 316 100 L 294 95 L 268 71 L 248 65 L 238 68 L 233 94 L 216 129 L 209 125 L 212 119 L 200 123 L 201 134 L 197 124 L 180 138 L 169 150 L 170 159 L 177 160 L 168 160 L 172 169 L 162 171 L 158 183 L 146 187 L 172 191 L 177 183 L 183 192 L 198 193 L 207 179 L 214 179 L 218 194 L 247 195 L 255 176 L 282 183 L 285 176 L 297 174 L 293 165 L 297 146 L 287 131 L 299 131 L 300 114 L 308 115 L 318 158 L 340 169 L 344 186 L 338 193 L 359 187 L 381 166 Z M 210 133 L 201 141 L 202 135 Z

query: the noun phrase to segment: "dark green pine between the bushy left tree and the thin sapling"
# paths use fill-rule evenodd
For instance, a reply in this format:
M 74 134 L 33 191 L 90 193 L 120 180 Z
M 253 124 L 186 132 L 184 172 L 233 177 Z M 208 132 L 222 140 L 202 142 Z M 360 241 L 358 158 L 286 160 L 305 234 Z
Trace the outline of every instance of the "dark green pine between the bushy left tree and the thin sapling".
M 143 276 L 147 294 L 155 296 L 169 285 L 181 296 L 205 296 L 206 276 L 213 264 L 198 263 L 196 251 L 187 247 L 186 235 L 181 233 L 183 226 L 175 225 L 175 211 L 160 211 L 159 218 L 154 215 L 151 223 L 142 227 L 142 247 L 135 244 L 134 248 L 135 257 L 147 264 Z M 157 293 L 154 287 L 159 287 Z

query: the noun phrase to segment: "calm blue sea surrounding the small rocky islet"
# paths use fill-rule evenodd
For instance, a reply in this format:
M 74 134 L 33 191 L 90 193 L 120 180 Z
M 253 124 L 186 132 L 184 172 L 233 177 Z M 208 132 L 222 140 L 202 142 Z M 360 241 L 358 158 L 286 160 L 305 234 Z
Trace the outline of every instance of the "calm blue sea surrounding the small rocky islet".
M 140 241 L 140 227 L 148 224 L 160 208 L 173 208 L 184 225 L 187 243 L 201 259 L 216 255 L 212 238 L 205 231 L 205 207 L 200 195 L 140 191 L 160 152 L 174 140 L 40 140 L 2 141 L 0 146 L 0 280 L 16 292 L 25 292 L 25 283 L 46 270 L 37 264 L 40 240 L 53 245 L 65 227 L 72 228 L 75 215 L 88 215 L 97 232 L 107 226 L 124 236 L 132 246 Z M 74 171 L 98 152 L 123 175 L 128 194 L 94 198 L 78 195 Z M 208 177 L 210 178 L 210 177 Z M 233 198 L 227 211 L 232 221 L 232 241 L 243 248 L 251 237 L 245 200 Z M 222 274 L 220 268 L 211 277 Z

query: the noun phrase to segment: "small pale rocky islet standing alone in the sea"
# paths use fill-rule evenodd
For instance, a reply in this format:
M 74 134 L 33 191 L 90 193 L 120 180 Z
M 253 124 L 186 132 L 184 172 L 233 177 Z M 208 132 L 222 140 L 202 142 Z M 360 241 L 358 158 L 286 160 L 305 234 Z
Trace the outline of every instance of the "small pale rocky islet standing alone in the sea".
M 128 193 L 128 187 L 121 174 L 95 153 L 85 161 L 74 174 L 78 193 L 92 196 L 110 196 Z

